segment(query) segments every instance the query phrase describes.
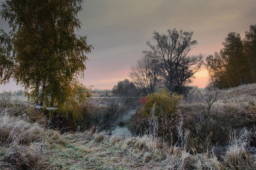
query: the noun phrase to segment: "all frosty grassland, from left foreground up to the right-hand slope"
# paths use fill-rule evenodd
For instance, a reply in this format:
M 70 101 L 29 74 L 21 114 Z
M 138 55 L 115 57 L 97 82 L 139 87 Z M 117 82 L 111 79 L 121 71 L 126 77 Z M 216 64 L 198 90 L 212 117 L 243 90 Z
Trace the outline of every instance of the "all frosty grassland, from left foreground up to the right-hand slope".
M 0 169 L 256 169 L 255 102 L 256 84 L 194 89 L 178 107 L 182 123 L 173 133 L 183 129 L 181 139 L 189 133 L 182 144 L 153 134 L 60 134 L 48 131 L 42 117 L 35 121 L 28 106 L 1 104 Z M 211 142 L 196 143 L 206 122 Z

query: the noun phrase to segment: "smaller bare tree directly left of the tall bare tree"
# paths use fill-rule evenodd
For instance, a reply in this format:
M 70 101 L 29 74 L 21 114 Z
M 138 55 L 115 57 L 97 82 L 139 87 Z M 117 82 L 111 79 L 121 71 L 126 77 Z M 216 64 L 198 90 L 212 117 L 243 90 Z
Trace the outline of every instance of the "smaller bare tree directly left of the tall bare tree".
M 132 66 L 129 77 L 131 77 L 134 85 L 142 89 L 146 95 L 154 93 L 162 82 L 161 64 L 158 58 L 144 55 L 135 66 Z

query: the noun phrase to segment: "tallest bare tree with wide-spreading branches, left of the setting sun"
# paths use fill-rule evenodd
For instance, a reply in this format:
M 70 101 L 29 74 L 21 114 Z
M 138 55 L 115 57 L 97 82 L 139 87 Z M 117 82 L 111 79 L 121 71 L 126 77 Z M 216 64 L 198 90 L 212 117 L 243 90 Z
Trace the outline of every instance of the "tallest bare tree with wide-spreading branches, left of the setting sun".
M 167 31 L 168 34 L 160 35 L 154 31 L 153 39 L 157 41 L 157 45 L 147 45 L 151 51 L 144 51 L 146 55 L 152 58 L 162 60 L 162 69 L 165 73 L 165 87 L 172 92 L 184 93 L 187 84 L 192 82 L 191 78 L 200 69 L 203 64 L 203 56 L 197 55 L 189 57 L 187 54 L 197 41 L 192 41 L 193 32 Z

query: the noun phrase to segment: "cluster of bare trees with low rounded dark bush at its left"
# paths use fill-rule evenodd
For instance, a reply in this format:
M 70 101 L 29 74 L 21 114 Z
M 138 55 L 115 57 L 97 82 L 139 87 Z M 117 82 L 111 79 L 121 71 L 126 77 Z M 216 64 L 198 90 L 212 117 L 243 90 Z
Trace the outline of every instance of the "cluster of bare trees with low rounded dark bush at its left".
M 154 93 L 159 88 L 167 88 L 173 93 L 187 93 L 194 74 L 203 65 L 203 55 L 188 55 L 197 45 L 197 41 L 192 40 L 193 32 L 169 29 L 167 34 L 161 35 L 154 31 L 153 35 L 157 45 L 146 42 L 151 50 L 143 51 L 143 58 L 132 66 L 129 72 L 132 82 L 118 82 L 113 88 L 114 94 L 129 96 L 124 87 L 130 87 L 132 93 L 140 93 L 143 96 Z

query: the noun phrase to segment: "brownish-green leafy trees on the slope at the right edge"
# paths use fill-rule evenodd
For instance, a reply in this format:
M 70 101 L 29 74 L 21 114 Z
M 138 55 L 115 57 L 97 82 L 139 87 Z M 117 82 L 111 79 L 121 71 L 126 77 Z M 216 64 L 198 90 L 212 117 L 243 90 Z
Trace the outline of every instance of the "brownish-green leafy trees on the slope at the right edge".
M 256 81 L 256 25 L 245 31 L 245 38 L 230 32 L 219 53 L 208 55 L 206 69 L 210 84 L 216 88 L 231 88 Z

